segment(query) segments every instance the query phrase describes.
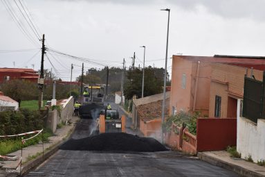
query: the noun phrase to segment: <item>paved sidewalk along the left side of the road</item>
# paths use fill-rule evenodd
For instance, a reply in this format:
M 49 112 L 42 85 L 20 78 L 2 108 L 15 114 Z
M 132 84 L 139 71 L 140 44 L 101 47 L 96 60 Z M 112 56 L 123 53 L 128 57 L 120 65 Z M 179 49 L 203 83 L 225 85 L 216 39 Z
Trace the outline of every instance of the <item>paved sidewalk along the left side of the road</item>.
M 60 144 L 62 144 L 68 138 L 68 136 L 71 135 L 71 133 L 73 133 L 75 124 L 77 121 L 79 121 L 79 119 L 79 117 L 71 117 L 71 119 L 69 120 L 71 122 L 70 125 L 63 126 L 62 128 L 57 129 L 55 135 L 49 137 L 49 141 L 44 143 L 44 157 L 42 157 L 42 144 L 35 144 L 33 146 L 28 146 L 24 148 L 22 151 L 22 174 L 24 174 L 29 169 L 36 167 L 37 165 L 42 163 L 46 158 L 55 153 L 59 148 Z M 19 160 L 0 161 L 0 177 L 10 176 L 10 174 L 14 174 L 14 176 L 15 174 L 19 174 L 20 167 L 18 165 L 20 162 L 21 150 L 15 151 L 8 155 L 15 155 L 19 157 Z M 32 158 L 33 160 L 30 160 Z

